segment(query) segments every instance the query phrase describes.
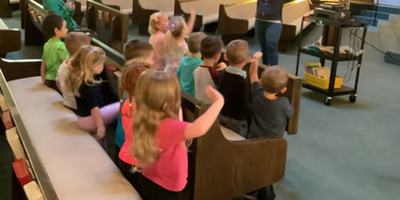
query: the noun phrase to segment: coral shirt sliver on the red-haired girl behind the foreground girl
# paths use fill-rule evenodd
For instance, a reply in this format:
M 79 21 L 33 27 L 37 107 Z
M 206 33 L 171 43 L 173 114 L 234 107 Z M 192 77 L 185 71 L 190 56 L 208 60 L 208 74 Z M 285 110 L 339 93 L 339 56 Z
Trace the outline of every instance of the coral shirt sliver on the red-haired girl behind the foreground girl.
M 137 161 L 131 156 L 130 146 L 133 138 L 133 112 L 136 110 L 135 105 L 129 108 L 129 101 L 126 100 L 121 108 L 122 127 L 125 131 L 125 143 L 119 152 L 119 158 L 130 165 L 138 165 Z M 130 117 L 128 117 L 130 116 Z

